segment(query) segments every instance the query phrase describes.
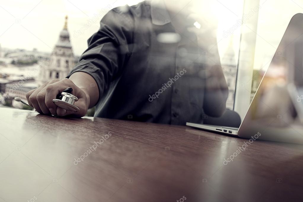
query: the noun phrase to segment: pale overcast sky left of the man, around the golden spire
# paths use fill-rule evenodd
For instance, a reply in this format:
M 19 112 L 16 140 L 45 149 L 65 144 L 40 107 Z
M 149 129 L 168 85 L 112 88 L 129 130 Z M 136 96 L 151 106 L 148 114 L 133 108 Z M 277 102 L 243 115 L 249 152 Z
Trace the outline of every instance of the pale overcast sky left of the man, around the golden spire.
M 127 1 L 130 5 L 138 2 Z M 87 48 L 87 39 L 98 31 L 101 18 L 94 16 L 125 4 L 123 0 L 0 0 L 0 44 L 5 48 L 37 48 L 38 51 L 51 52 L 64 26 L 65 15 L 68 15 L 73 51 L 81 55 Z M 94 23 L 85 27 L 87 29 L 81 35 L 74 35 L 92 19 Z

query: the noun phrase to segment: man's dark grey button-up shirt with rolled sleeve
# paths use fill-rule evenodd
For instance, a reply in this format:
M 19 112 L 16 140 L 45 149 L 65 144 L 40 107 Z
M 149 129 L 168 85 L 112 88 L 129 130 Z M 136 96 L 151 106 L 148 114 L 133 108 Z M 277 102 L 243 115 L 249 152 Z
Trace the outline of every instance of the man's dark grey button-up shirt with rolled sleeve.
M 67 78 L 84 71 L 96 80 L 98 88 L 92 88 L 100 98 L 95 117 L 202 123 L 205 112 L 224 112 L 227 94 L 221 99 L 214 92 L 205 93 L 207 55 L 196 42 L 195 34 L 176 30 L 168 12 L 150 2 L 114 8 L 102 18 Z

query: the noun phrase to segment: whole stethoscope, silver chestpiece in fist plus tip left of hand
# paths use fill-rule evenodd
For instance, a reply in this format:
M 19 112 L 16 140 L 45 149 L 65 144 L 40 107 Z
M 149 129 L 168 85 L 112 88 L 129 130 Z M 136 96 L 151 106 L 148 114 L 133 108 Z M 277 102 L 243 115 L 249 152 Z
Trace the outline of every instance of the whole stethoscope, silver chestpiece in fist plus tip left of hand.
M 78 101 L 78 98 L 75 95 L 71 94 L 72 91 L 73 89 L 71 87 L 68 87 L 59 93 L 56 99 L 53 99 L 54 104 L 67 111 L 78 112 L 79 108 L 74 104 L 76 101 Z M 15 97 L 15 101 L 28 105 L 19 97 Z

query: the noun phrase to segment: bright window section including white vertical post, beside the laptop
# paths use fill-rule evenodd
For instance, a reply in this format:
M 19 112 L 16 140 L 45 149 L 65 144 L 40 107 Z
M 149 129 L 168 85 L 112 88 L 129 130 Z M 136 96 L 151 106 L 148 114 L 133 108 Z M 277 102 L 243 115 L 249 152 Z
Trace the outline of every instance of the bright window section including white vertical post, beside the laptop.
M 271 63 L 290 19 L 302 12 L 303 3 L 297 0 L 279 2 L 274 0 L 247 0 L 244 13 L 258 5 L 256 12 L 242 25 L 241 49 L 235 111 L 244 118 L 258 89 L 260 81 Z M 279 12 L 279 15 L 275 13 Z

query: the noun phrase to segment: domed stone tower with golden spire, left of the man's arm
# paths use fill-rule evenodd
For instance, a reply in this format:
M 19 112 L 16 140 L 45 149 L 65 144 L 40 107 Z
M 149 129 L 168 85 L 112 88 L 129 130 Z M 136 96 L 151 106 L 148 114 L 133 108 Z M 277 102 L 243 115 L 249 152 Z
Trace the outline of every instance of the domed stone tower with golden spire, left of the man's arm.
M 72 45 L 69 40 L 69 33 L 67 30 L 67 19 L 65 17 L 65 25 L 60 32 L 59 39 L 55 45 L 50 59 L 41 65 L 38 84 L 42 85 L 52 79 L 61 80 L 65 78 L 71 68 L 74 66 L 74 55 Z

